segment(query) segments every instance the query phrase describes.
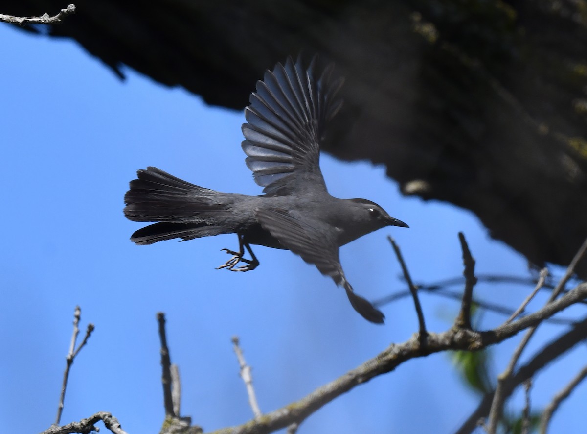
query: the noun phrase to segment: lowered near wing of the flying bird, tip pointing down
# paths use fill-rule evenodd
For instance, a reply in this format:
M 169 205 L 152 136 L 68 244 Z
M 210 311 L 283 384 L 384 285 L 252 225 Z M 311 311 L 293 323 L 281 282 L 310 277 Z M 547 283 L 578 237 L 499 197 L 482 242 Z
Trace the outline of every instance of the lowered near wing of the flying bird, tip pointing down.
M 355 311 L 359 312 L 367 321 L 383 323 L 385 316 L 373 305 L 356 295 L 352 286 L 346 280 L 338 256 L 338 246 L 328 238 L 330 231 L 323 231 L 317 227 L 320 223 L 308 223 L 302 213 L 279 208 L 257 208 L 255 217 L 265 231 L 286 249 L 302 257 L 308 263 L 313 263 L 323 274 L 330 276 L 337 285 L 345 288 L 346 295 Z

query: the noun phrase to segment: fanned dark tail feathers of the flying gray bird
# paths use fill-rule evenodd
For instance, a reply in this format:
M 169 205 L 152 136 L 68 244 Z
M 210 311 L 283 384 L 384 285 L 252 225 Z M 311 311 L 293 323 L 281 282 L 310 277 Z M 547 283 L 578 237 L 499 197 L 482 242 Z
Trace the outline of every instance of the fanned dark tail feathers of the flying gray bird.
M 156 167 L 137 171 L 137 178 L 124 195 L 124 215 L 134 222 L 159 223 L 134 232 L 131 241 L 152 244 L 224 233 L 220 223 L 227 211 L 226 194 L 183 181 Z

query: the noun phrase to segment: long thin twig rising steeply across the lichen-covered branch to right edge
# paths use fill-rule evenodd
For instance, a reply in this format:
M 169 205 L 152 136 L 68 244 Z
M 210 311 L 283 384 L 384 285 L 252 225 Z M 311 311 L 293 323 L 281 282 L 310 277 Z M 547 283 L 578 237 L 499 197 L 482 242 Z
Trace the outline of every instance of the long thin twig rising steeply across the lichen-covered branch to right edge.
M 573 260 L 571 261 L 571 263 L 567 267 L 565 275 L 562 276 L 561 280 L 555 286 L 555 289 L 552 291 L 551 296 L 549 297 L 548 301 L 546 302 L 545 308 L 547 308 L 548 305 L 551 305 L 552 303 L 555 302 L 556 297 L 564 289 L 566 282 L 568 282 L 569 279 L 571 279 L 571 276 L 575 273 L 575 266 L 579 261 L 581 261 L 581 258 L 585 254 L 585 251 L 587 251 L 587 238 L 585 239 L 585 241 L 583 241 L 581 248 L 576 253 L 575 257 L 573 258 Z M 579 285 L 579 286 L 581 286 L 581 285 Z M 497 431 L 497 425 L 498 425 L 498 422 L 501 418 L 501 413 L 502 413 L 502 409 L 503 409 L 504 401 L 505 401 L 505 394 L 503 392 L 504 383 L 514 373 L 515 365 L 517 365 L 518 360 L 519 360 L 520 356 L 522 355 L 522 352 L 524 351 L 524 349 L 528 345 L 529 340 L 534 335 L 534 332 L 538 328 L 539 323 L 540 322 L 538 322 L 536 325 L 534 325 L 531 328 L 529 328 L 528 330 L 526 330 L 524 338 L 522 338 L 518 347 L 515 349 L 514 354 L 512 355 L 512 357 L 510 359 L 510 363 L 508 363 L 507 368 L 504 370 L 504 372 L 502 372 L 497 377 L 497 386 L 495 388 L 493 402 L 491 403 L 491 410 L 489 413 L 489 422 L 487 424 L 487 432 L 489 434 L 494 434 Z

